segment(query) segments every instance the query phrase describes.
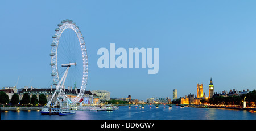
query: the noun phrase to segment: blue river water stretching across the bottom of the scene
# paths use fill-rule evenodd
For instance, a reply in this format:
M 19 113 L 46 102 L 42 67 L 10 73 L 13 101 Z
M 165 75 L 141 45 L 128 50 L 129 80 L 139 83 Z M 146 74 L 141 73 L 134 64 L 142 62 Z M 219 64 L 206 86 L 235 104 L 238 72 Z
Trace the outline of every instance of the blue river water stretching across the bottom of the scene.
M 40 111 L 1 111 L 1 120 L 256 120 L 256 112 L 179 106 L 127 107 L 114 111 L 76 111 L 74 115 L 41 115 Z

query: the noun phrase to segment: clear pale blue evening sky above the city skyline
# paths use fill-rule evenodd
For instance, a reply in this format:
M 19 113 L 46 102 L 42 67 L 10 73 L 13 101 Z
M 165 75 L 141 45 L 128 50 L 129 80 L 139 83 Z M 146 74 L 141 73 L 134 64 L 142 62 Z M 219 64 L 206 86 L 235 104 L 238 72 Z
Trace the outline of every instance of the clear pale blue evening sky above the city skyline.
M 112 98 L 196 94 L 210 77 L 214 91 L 252 91 L 256 85 L 256 1 L 2 1 L 0 86 L 47 88 L 52 35 L 72 19 L 89 55 L 87 90 Z M 159 48 L 159 72 L 98 68 L 101 47 Z

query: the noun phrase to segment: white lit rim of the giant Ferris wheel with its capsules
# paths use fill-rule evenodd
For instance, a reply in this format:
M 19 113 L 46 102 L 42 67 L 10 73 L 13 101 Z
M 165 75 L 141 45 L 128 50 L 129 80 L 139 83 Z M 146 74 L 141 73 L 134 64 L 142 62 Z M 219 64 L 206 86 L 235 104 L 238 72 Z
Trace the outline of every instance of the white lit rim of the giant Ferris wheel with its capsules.
M 85 42 L 84 42 L 84 37 L 82 36 L 82 33 L 79 29 L 79 27 L 76 25 L 76 23 L 73 23 L 72 20 L 63 20 L 61 21 L 60 24 L 58 24 L 59 28 L 56 28 L 55 31 L 55 35 L 52 36 L 53 38 L 53 42 L 51 44 L 52 46 L 52 50 L 51 50 L 51 68 L 52 68 L 52 77 L 53 77 L 53 85 L 55 85 L 56 91 L 61 90 L 61 84 L 60 84 L 60 76 L 59 76 L 59 72 L 58 72 L 58 67 L 57 67 L 57 51 L 58 51 L 58 46 L 59 46 L 59 40 L 61 37 L 61 34 L 66 30 L 66 29 L 72 29 L 75 33 L 76 36 L 79 40 L 80 46 L 81 46 L 81 52 L 82 52 L 82 66 L 83 66 L 83 73 L 82 73 L 82 84 L 81 84 L 81 88 L 80 88 L 80 92 L 79 94 L 77 94 L 76 98 L 72 99 L 72 102 L 78 102 L 81 98 L 82 95 L 84 95 L 85 92 L 85 88 L 87 85 L 87 81 L 88 81 L 88 55 L 87 55 L 87 50 L 86 50 L 86 46 L 85 46 Z M 65 92 L 62 93 L 62 95 L 64 95 L 66 98 L 67 95 L 65 94 Z

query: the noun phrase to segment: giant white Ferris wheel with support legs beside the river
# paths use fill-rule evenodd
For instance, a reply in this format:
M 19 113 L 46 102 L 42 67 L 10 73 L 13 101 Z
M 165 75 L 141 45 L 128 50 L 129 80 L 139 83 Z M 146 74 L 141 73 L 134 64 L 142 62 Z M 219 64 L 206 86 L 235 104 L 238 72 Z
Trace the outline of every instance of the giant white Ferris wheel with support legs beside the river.
M 88 81 L 88 55 L 79 27 L 69 19 L 62 20 L 58 26 L 55 35 L 52 36 L 50 53 L 51 76 L 56 90 L 47 107 L 50 106 L 53 98 L 57 98 L 62 103 L 79 102 Z M 72 85 L 80 91 L 75 98 L 69 99 L 65 94 L 65 86 L 72 91 Z

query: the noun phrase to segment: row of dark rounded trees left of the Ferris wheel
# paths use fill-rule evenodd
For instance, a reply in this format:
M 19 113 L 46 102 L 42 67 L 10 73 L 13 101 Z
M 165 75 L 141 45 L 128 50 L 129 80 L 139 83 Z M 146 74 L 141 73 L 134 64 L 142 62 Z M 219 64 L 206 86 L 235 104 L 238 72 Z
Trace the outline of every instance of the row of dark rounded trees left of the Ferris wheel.
M 39 98 L 36 97 L 36 95 L 32 95 L 30 98 L 30 95 L 28 93 L 24 93 L 22 99 L 19 99 L 18 94 L 13 94 L 11 96 L 11 99 L 9 99 L 8 95 L 0 91 L 0 104 L 11 104 L 13 106 L 16 106 L 18 104 L 21 105 L 27 105 L 27 104 L 32 104 L 33 106 L 38 106 L 40 105 L 45 105 L 47 103 L 46 95 L 40 94 Z

